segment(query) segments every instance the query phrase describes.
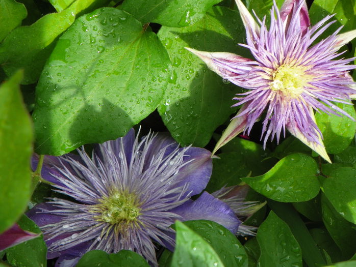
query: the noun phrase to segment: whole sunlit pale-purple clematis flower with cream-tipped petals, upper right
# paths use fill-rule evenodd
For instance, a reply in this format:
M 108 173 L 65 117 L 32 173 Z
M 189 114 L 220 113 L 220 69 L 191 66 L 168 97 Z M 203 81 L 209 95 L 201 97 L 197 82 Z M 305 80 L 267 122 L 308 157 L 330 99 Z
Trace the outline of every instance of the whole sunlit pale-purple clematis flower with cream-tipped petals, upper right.
M 199 56 L 218 75 L 248 91 L 234 98 L 241 108 L 217 143 L 213 154 L 240 132 L 247 134 L 266 110 L 262 136 L 279 141 L 287 130 L 316 151 L 326 161 L 322 134 L 315 122 L 314 110 L 350 117 L 333 102 L 350 103 L 355 83 L 348 74 L 354 58 L 337 59 L 339 48 L 356 36 L 356 30 L 331 36 L 313 44 L 330 24 L 326 16 L 310 25 L 305 0 L 286 0 L 279 11 L 275 1 L 271 22 L 257 21 L 240 0 L 236 0 L 247 44 L 254 60 L 227 52 L 189 51 Z M 353 88 L 352 88 L 353 87 Z M 352 118 L 352 117 L 350 117 Z

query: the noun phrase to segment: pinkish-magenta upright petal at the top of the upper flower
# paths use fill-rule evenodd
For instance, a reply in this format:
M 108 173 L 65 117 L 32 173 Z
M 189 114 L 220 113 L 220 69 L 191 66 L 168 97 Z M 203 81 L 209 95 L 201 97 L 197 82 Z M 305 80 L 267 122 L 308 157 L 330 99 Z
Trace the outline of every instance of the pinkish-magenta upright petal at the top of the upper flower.
M 301 4 L 301 2 L 303 3 Z M 286 0 L 281 7 L 281 18 L 283 21 L 287 21 L 286 27 L 288 28 L 293 12 L 295 12 L 294 9 L 297 9 L 299 5 L 302 5 L 302 7 L 295 16 L 299 17 L 301 31 L 305 33 L 310 26 L 308 7 L 305 0 Z

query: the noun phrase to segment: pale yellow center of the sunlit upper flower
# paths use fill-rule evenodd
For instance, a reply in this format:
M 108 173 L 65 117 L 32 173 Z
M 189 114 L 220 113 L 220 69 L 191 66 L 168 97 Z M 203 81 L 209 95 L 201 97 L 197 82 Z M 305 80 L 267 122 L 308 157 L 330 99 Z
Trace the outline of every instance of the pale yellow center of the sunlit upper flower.
M 307 75 L 298 67 L 280 66 L 272 74 L 273 81 L 269 87 L 272 91 L 281 91 L 284 95 L 298 97 L 303 93 Z

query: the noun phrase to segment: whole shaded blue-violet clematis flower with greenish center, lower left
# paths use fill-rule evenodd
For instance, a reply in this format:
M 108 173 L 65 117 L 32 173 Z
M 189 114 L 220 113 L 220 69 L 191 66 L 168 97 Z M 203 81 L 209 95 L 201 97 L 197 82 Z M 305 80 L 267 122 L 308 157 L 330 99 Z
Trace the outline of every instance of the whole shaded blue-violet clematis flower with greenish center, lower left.
M 155 245 L 174 246 L 175 220 L 213 220 L 236 232 L 240 221 L 207 192 L 211 152 L 183 147 L 166 135 L 126 136 L 98 145 L 89 157 L 46 157 L 41 175 L 65 195 L 29 211 L 44 234 L 48 258 L 74 266 L 87 251 L 141 254 L 157 266 Z M 34 162 L 36 165 L 36 161 Z M 33 166 L 35 167 L 35 166 Z M 73 200 L 68 200 L 71 197 Z

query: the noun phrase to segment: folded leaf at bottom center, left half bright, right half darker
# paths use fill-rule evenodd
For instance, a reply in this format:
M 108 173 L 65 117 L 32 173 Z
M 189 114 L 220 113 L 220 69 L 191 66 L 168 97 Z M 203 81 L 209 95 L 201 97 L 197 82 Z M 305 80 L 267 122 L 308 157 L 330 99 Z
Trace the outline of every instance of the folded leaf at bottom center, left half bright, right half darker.
M 247 255 L 236 237 L 206 220 L 175 222 L 176 245 L 171 267 L 247 267 Z

